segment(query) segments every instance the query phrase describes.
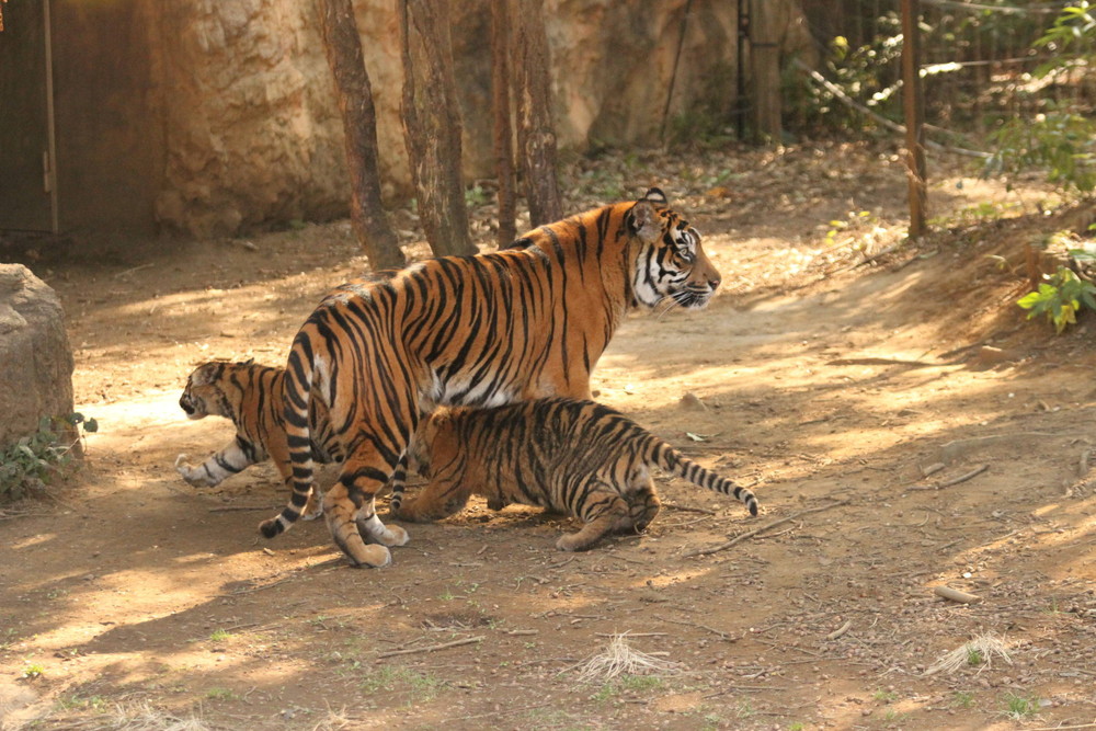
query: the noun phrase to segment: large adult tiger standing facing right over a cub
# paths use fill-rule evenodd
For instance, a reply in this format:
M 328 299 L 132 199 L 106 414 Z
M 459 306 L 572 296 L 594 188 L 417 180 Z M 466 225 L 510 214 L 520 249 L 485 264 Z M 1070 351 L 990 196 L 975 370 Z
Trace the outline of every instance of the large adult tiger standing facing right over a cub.
M 408 535 L 380 522 L 374 496 L 404 459 L 420 413 L 590 398 L 590 373 L 629 309 L 667 299 L 700 308 L 718 286 L 699 233 L 658 189 L 541 226 L 505 250 L 342 285 L 289 351 L 294 494 L 283 521 L 297 517 L 311 489 L 317 399 L 346 455 L 323 498 L 328 527 L 355 566 L 385 566 L 387 547 Z

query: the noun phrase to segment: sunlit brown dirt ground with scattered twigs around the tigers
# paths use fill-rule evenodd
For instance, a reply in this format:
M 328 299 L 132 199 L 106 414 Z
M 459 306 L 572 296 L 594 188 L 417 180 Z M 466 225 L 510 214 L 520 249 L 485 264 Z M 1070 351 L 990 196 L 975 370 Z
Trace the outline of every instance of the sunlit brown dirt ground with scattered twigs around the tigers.
M 206 358 L 281 364 L 365 265 L 349 225 L 41 264 L 100 432 L 65 484 L 0 513 L 0 726 L 1094 728 L 1094 325 L 1054 338 L 1012 304 L 1023 242 L 1065 225 L 1046 192 L 937 168 L 952 229 L 888 251 L 892 152 L 670 160 L 580 161 L 569 203 L 659 184 L 724 286 L 632 316 L 594 388 L 751 484 L 760 517 L 661 479 L 644 535 L 584 553 L 555 550 L 572 521 L 481 502 L 409 526 L 381 570 L 350 568 L 322 521 L 264 540 L 275 471 L 185 484 L 175 456 L 231 427 L 189 422 L 179 393 Z M 591 661 L 610 649 L 657 665 L 609 677 Z

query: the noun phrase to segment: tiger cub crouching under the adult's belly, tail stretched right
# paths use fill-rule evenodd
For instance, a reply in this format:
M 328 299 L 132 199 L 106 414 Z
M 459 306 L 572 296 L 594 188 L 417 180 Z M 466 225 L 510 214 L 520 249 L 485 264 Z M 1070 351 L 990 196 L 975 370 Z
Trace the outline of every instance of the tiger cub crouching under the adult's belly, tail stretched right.
M 757 515 L 746 488 L 700 467 L 627 416 L 593 401 L 540 399 L 493 409 L 442 408 L 420 423 L 409 447 L 429 482 L 393 514 L 407 521 L 453 515 L 478 494 L 492 510 L 517 503 L 573 515 L 585 523 L 556 547 L 581 551 L 610 530 L 642 530 L 659 513 L 650 470 L 734 495 Z

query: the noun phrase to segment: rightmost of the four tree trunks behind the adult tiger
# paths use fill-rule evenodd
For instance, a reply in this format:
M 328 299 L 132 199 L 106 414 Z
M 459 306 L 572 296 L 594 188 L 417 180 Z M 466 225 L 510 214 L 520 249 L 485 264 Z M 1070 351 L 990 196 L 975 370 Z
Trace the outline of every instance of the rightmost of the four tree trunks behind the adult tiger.
M 556 180 L 556 129 L 544 3 L 543 0 L 517 0 L 510 7 L 517 85 L 517 144 L 525 176 L 525 197 L 529 204 L 529 224 L 543 226 L 563 217 Z

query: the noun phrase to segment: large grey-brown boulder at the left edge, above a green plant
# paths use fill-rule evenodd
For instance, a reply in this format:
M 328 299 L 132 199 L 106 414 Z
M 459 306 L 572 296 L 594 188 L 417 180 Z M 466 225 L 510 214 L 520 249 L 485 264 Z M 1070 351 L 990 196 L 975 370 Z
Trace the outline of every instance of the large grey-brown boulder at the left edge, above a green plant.
M 43 416 L 72 413 L 72 351 L 53 289 L 21 264 L 0 264 L 0 446 Z

